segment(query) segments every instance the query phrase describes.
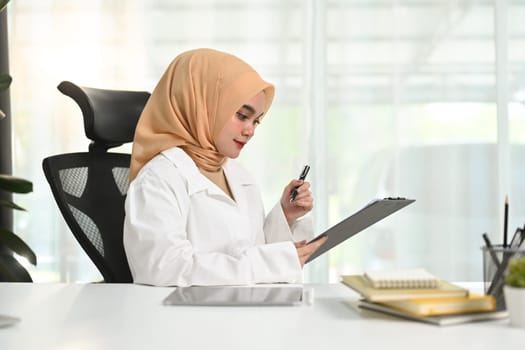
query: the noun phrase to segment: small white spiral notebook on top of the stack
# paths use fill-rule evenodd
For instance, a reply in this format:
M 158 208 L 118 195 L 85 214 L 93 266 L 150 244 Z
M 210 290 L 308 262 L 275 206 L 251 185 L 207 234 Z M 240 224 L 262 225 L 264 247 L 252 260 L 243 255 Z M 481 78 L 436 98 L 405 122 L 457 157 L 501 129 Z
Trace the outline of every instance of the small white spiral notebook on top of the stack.
M 374 288 L 437 288 L 439 278 L 423 268 L 367 271 L 365 278 Z

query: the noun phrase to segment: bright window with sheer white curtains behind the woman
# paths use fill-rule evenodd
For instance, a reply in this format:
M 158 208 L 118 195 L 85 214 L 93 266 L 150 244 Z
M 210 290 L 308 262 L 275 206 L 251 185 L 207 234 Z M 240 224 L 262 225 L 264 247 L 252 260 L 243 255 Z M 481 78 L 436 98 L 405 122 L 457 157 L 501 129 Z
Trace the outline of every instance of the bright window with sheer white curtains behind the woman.
M 35 187 L 15 222 L 38 255 L 34 279 L 100 278 L 41 170 L 88 146 L 58 83 L 151 91 L 174 56 L 207 46 L 276 85 L 240 159 L 267 210 L 306 163 L 317 232 L 373 197 L 416 199 L 316 259 L 307 280 L 422 266 L 480 281 L 481 234 L 501 241 L 506 194 L 509 229 L 524 221 L 524 12 L 511 0 L 12 2 L 15 171 Z

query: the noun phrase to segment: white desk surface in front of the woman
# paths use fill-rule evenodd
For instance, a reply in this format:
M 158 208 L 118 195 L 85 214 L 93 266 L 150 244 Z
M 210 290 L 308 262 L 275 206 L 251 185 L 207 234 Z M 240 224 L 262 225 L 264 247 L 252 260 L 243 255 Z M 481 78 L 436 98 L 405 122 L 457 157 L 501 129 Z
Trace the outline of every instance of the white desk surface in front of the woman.
M 0 283 L 0 349 L 522 349 L 507 320 L 438 327 L 356 311 L 340 284 L 311 285 L 311 306 L 176 307 L 173 288 Z

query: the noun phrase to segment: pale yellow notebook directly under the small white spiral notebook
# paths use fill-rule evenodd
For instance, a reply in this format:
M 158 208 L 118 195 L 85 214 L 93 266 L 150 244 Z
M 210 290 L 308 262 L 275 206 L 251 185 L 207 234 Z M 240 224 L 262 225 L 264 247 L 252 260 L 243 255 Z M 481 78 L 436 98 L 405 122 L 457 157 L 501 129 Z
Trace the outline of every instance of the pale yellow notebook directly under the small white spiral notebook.
M 341 276 L 342 282 L 369 301 L 388 301 L 416 298 L 465 297 L 468 290 L 440 280 L 436 288 L 374 288 L 362 275 Z

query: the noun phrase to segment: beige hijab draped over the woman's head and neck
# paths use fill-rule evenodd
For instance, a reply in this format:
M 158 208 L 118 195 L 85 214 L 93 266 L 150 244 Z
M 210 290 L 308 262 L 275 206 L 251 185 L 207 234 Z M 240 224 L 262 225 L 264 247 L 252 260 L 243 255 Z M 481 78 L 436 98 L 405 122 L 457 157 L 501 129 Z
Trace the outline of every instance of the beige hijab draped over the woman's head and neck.
M 226 122 L 250 98 L 273 85 L 239 58 L 212 49 L 182 53 L 169 65 L 142 112 L 133 140 L 130 181 L 150 159 L 181 147 L 206 171 L 219 171 L 226 157 L 215 139 Z

